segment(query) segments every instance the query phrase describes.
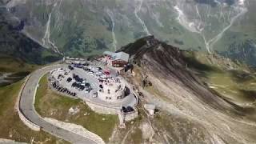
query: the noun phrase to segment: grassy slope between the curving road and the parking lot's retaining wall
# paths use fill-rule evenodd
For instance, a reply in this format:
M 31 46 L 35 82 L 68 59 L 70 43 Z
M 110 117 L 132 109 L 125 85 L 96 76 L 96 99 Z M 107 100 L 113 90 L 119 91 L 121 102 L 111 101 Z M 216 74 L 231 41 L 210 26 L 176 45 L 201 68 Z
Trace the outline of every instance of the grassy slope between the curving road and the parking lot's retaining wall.
M 96 114 L 81 100 L 67 98 L 54 93 L 47 85 L 46 75 L 39 83 L 36 95 L 35 108 L 43 117 L 56 118 L 62 122 L 71 122 L 84 126 L 86 130 L 98 134 L 108 142 L 114 126 L 118 122 L 115 115 Z M 68 114 L 70 107 L 78 107 L 78 114 Z M 86 115 L 85 115 L 86 114 Z M 102 120 L 105 118 L 105 120 Z

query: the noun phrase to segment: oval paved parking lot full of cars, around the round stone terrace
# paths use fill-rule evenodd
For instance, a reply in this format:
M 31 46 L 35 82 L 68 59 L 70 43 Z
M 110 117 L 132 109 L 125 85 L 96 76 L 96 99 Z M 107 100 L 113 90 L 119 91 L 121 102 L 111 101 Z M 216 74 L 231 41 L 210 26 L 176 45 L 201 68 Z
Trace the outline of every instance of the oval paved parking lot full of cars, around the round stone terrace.
M 61 69 L 50 71 L 50 83 L 54 90 L 72 97 L 82 98 L 84 101 L 96 102 L 106 106 L 135 106 L 137 100 L 133 94 L 127 94 L 118 102 L 106 102 L 98 98 L 98 91 L 102 83 L 116 84 L 121 77 L 113 70 L 101 66 L 91 66 L 89 63 L 67 65 Z M 111 83 L 112 82 L 112 83 Z

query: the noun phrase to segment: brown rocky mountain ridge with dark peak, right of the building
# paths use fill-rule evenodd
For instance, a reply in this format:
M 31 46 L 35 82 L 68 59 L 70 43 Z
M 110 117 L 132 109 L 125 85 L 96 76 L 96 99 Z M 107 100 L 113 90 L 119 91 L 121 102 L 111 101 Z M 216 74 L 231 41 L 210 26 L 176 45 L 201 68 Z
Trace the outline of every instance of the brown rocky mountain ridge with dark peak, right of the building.
M 256 142 L 255 70 L 218 54 L 179 50 L 154 37 L 122 50 L 135 63 L 129 80 L 146 96 L 142 102 L 168 113 L 151 121 L 156 143 Z M 152 86 L 142 88 L 144 78 Z

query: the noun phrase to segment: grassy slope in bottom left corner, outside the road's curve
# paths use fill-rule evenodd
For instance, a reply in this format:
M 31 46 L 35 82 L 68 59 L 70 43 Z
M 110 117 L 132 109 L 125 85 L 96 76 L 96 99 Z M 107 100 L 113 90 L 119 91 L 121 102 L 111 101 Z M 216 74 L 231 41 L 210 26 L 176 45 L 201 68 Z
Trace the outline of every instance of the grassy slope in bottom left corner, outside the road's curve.
M 22 123 L 14 110 L 21 86 L 22 82 L 17 82 L 0 88 L 0 138 L 14 139 L 18 142 L 30 142 L 34 139 L 34 142 L 66 143 L 45 132 L 30 130 Z

